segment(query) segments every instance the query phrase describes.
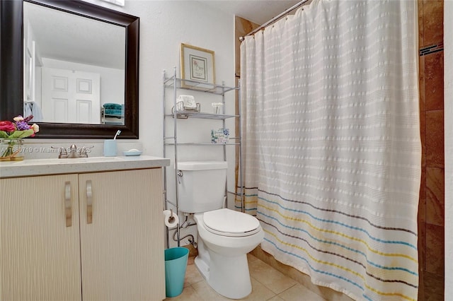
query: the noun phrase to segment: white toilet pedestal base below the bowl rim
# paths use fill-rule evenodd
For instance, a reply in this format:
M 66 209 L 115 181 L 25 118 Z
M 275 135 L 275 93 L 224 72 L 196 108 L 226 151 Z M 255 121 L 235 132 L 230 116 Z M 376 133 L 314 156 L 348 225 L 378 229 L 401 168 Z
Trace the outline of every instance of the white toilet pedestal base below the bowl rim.
M 195 266 L 207 283 L 220 295 L 241 299 L 250 295 L 252 285 L 247 255 L 223 256 L 209 250 L 209 263 L 195 257 Z

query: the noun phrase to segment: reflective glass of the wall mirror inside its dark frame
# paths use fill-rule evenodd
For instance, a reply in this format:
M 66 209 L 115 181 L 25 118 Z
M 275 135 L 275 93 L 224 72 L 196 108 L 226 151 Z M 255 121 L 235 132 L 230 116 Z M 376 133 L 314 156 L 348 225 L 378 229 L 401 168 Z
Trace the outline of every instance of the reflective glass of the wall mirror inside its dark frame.
M 124 107 L 124 27 L 26 1 L 23 3 L 23 25 L 24 53 L 28 53 L 26 50 L 32 42 L 35 47 L 35 53 L 30 55 L 35 61 L 35 64 L 31 63 L 35 68 L 31 72 L 24 70 L 24 94 L 32 88 L 35 89 L 35 95 L 33 96 L 33 90 L 29 93 L 32 96 L 24 95 L 25 102 L 29 102 L 24 102 L 24 114 L 33 111 L 31 114 L 35 116 L 35 109 L 39 108 L 42 111 L 39 115 L 43 119 L 34 120 L 36 122 L 101 124 L 101 107 L 105 103 Z M 24 59 L 26 66 L 27 58 L 24 56 Z M 76 96 L 71 96 L 78 99 L 76 102 L 70 102 L 69 95 L 62 95 L 59 90 L 62 86 L 59 85 L 63 85 L 63 81 L 55 82 L 52 93 L 45 92 L 45 85 L 46 88 L 50 86 L 49 83 L 44 83 L 44 69 L 74 70 L 78 74 L 98 73 L 101 85 L 95 87 L 95 83 L 91 83 L 93 92 L 97 89 L 98 100 L 90 99 L 88 102 L 88 81 L 81 81 L 79 92 Z M 68 81 L 67 84 L 68 89 L 71 88 L 71 82 Z M 67 93 L 71 93 L 71 90 Z M 67 99 L 67 102 L 63 99 Z M 120 119 L 120 122 L 124 124 L 124 119 Z

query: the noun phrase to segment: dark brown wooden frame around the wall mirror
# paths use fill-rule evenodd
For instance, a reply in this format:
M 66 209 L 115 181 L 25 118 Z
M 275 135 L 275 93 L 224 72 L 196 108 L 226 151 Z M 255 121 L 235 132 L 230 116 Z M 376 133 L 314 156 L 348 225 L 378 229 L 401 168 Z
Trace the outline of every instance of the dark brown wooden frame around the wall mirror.
M 36 122 L 40 138 L 139 137 L 139 18 L 84 1 L 25 0 L 31 4 L 71 13 L 96 22 L 125 28 L 124 124 L 78 124 Z M 23 1 L 0 1 L 0 119 L 12 120 L 23 114 Z

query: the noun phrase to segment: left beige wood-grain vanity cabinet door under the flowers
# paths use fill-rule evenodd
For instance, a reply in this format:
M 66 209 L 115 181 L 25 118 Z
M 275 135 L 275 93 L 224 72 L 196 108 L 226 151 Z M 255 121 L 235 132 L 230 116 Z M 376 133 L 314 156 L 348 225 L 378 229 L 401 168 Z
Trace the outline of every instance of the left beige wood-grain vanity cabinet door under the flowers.
M 77 181 L 0 179 L 0 300 L 81 300 Z

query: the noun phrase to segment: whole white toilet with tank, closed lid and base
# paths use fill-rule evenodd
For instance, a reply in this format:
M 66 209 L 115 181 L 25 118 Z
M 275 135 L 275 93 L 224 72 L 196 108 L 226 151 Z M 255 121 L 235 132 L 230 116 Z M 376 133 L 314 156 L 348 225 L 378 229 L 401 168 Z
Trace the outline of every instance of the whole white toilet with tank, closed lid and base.
M 224 207 L 224 161 L 178 162 L 178 206 L 197 223 L 195 266 L 220 295 L 241 299 L 252 291 L 247 253 L 263 241 L 254 216 Z

